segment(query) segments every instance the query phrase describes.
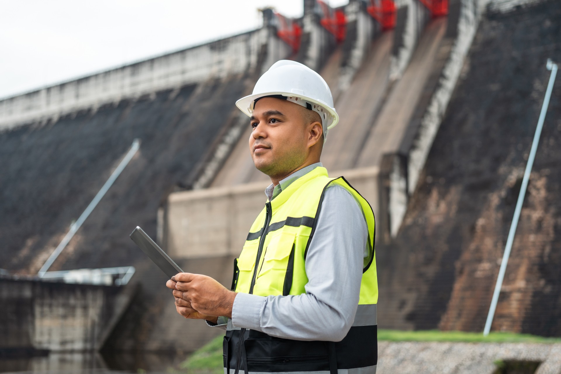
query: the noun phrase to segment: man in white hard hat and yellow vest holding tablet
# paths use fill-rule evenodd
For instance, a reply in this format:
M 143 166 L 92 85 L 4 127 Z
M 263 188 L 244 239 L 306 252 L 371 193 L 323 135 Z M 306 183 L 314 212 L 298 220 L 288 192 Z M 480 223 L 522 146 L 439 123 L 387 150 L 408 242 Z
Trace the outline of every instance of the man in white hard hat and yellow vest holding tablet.
M 279 61 L 236 105 L 272 184 L 234 265 L 232 290 L 200 274 L 169 280 L 177 312 L 226 329 L 224 370 L 375 373 L 374 214 L 320 155 L 338 122 L 328 85 Z M 325 129 L 325 130 L 324 130 Z

